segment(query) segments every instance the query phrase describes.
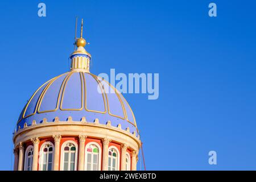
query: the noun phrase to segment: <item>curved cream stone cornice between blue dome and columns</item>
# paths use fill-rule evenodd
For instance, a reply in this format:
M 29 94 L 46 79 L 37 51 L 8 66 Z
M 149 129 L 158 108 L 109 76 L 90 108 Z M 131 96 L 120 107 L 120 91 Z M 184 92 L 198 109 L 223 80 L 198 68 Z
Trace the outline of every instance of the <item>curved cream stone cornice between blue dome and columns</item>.
M 88 138 L 111 138 L 117 143 L 127 143 L 132 149 L 138 151 L 141 146 L 139 138 L 129 134 L 117 127 L 106 127 L 105 125 L 84 122 L 49 122 L 40 125 L 29 126 L 24 130 L 20 130 L 14 135 L 15 146 L 20 142 L 26 142 L 37 136 L 39 138 L 52 137 L 52 135 L 61 134 L 62 136 L 79 136 L 85 135 Z

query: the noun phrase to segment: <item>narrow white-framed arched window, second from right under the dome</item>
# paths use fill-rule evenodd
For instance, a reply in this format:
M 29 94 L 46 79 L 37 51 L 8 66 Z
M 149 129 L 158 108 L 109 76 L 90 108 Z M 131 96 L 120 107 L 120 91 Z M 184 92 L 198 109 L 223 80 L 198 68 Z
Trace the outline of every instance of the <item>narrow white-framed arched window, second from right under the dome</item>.
M 109 147 L 109 171 L 119 170 L 119 152 L 117 147 Z

